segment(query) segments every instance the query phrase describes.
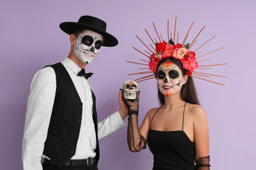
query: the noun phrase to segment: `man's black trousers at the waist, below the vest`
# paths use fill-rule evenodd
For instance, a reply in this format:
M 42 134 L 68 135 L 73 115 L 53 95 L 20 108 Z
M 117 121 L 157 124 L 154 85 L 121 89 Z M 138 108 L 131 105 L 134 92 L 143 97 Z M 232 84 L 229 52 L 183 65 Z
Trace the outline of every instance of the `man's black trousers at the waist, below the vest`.
M 62 169 L 59 169 L 55 164 L 48 164 L 43 162 L 43 170 L 98 170 L 96 164 L 92 164 L 90 166 L 87 165 L 71 165 L 71 166 L 63 166 Z

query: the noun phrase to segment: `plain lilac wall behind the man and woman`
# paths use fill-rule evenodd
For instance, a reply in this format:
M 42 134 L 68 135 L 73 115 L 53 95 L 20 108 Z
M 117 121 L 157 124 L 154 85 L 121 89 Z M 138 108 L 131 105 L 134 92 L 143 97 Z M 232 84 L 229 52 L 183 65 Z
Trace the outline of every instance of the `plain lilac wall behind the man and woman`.
M 214 79 L 218 86 L 196 79 L 201 105 L 210 126 L 210 164 L 213 169 L 253 169 L 256 157 L 255 133 L 255 7 L 256 1 L 0 1 L 0 164 L 1 169 L 22 169 L 21 141 L 26 100 L 33 74 L 38 69 L 60 62 L 70 50 L 69 36 L 59 28 L 63 21 L 78 21 L 92 15 L 107 22 L 107 30 L 119 40 L 117 47 L 102 47 L 87 69 L 94 72 L 90 85 L 97 96 L 97 112 L 102 120 L 118 109 L 117 94 L 127 74 L 137 72 L 126 60 L 144 58 L 132 49 L 146 50 L 137 40 L 150 42 L 144 28 L 156 36 L 152 21 L 164 39 L 166 21 L 170 29 L 178 16 L 180 40 L 195 21 L 188 42 L 201 28 L 193 50 L 213 35 L 206 50 L 225 46 L 208 55 L 206 64 L 228 62 L 213 67 L 211 73 L 228 79 Z M 202 48 L 203 49 L 203 48 Z M 208 57 L 205 57 L 208 58 Z M 122 69 L 122 70 L 121 70 Z M 132 69 L 129 71 L 129 69 Z M 139 122 L 149 108 L 158 107 L 156 81 L 139 83 L 142 91 Z M 124 127 L 100 141 L 99 169 L 151 169 L 149 149 L 129 152 Z

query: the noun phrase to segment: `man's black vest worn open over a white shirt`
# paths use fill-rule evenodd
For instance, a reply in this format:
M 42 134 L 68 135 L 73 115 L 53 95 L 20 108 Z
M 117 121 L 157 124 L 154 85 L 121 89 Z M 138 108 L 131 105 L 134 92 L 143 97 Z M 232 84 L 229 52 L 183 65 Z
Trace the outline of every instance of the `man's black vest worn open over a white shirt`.
M 55 71 L 57 88 L 43 154 L 49 157 L 58 167 L 62 167 L 75 155 L 82 119 L 82 101 L 63 64 L 59 62 L 49 67 L 53 67 Z M 97 137 L 96 98 L 93 92 L 92 101 L 92 118 L 97 140 L 95 158 L 98 162 L 100 149 Z

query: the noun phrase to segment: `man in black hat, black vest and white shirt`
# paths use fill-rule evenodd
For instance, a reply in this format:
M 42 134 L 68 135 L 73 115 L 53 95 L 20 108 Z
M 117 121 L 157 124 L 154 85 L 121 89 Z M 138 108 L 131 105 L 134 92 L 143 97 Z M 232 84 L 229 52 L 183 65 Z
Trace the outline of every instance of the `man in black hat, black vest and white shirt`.
M 98 140 L 121 128 L 128 114 L 120 91 L 119 111 L 97 123 L 95 95 L 87 82 L 92 73 L 85 67 L 100 47 L 118 43 L 106 32 L 106 23 L 82 16 L 60 28 L 70 35 L 70 54 L 33 77 L 23 135 L 24 170 L 97 169 Z

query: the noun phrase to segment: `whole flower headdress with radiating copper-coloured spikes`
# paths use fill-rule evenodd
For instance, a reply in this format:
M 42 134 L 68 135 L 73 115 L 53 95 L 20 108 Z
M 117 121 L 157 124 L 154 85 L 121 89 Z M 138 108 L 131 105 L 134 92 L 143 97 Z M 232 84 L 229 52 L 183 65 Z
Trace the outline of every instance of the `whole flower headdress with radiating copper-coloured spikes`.
M 211 78 L 211 77 L 223 77 L 223 76 L 220 76 L 220 75 L 216 75 L 216 74 L 209 74 L 209 73 L 206 73 L 206 72 L 201 72 L 201 71 L 198 71 L 198 70 L 201 70 L 201 69 L 210 69 L 210 67 L 214 67 L 214 66 L 218 66 L 218 65 L 223 65 L 223 64 L 228 64 L 228 63 L 222 63 L 222 64 L 206 64 L 206 65 L 203 65 L 203 64 L 200 64 L 198 65 L 198 63 L 200 62 L 206 62 L 208 60 L 210 60 L 209 58 L 206 59 L 206 60 L 200 60 L 198 61 L 199 58 L 201 57 L 205 57 L 206 55 L 209 55 L 213 52 L 216 52 L 218 50 L 221 50 L 223 49 L 224 47 L 220 47 L 216 50 L 213 50 L 211 52 L 207 52 L 206 54 L 203 54 L 199 57 L 196 57 L 196 51 L 199 50 L 201 47 L 203 47 L 203 45 L 206 45 L 206 43 L 208 43 L 210 40 L 212 40 L 213 38 L 215 38 L 216 35 L 214 35 L 212 38 L 210 38 L 209 40 L 207 40 L 206 42 L 203 43 L 203 45 L 200 45 L 196 50 L 191 50 L 191 47 L 193 47 L 193 45 L 196 44 L 196 41 L 197 41 L 197 38 L 198 38 L 198 35 L 202 32 L 202 30 L 206 27 L 204 26 L 200 32 L 196 35 L 196 38 L 193 39 L 193 41 L 190 43 L 187 43 L 186 44 L 186 40 L 188 38 L 188 33 L 190 32 L 192 26 L 193 26 L 193 23 L 191 24 L 191 27 L 188 29 L 188 33 L 186 33 L 186 36 L 184 38 L 184 40 L 182 41 L 182 43 L 178 43 L 178 34 L 176 36 L 176 19 L 177 17 L 175 18 L 175 25 L 174 25 L 174 39 L 172 39 L 172 36 L 171 38 L 169 38 L 169 20 L 168 20 L 168 23 L 167 23 L 167 34 L 168 34 L 168 43 L 166 41 L 163 40 L 162 38 L 162 35 L 160 34 L 161 36 L 161 40 L 160 40 L 160 36 L 159 36 L 159 33 L 157 32 L 156 30 L 156 26 L 154 25 L 153 23 L 153 26 L 154 26 L 154 30 L 156 30 L 156 35 L 157 37 L 159 38 L 159 40 L 156 40 L 156 38 L 154 38 L 154 40 L 151 38 L 151 36 L 149 35 L 148 31 L 145 29 L 146 31 L 146 34 L 149 35 L 149 38 L 151 39 L 151 41 L 153 42 L 153 45 L 156 45 L 156 47 L 153 47 L 153 45 L 151 45 L 149 43 L 149 45 L 151 46 L 151 49 L 153 49 L 153 51 L 149 48 L 150 46 L 147 46 L 137 35 L 137 38 L 140 40 L 140 42 L 142 42 L 142 44 L 150 51 L 146 51 L 144 50 L 147 54 L 145 54 L 144 52 L 138 50 L 136 47 L 133 47 L 135 50 L 137 50 L 138 52 L 140 52 L 142 55 L 145 55 L 146 57 L 148 57 L 149 61 L 146 61 L 146 60 L 143 60 L 143 59 L 140 59 L 142 60 L 143 62 L 146 62 L 146 63 L 141 63 L 141 62 L 130 62 L 130 61 L 127 61 L 129 63 L 132 63 L 132 64 L 139 64 L 139 65 L 143 65 L 143 66 L 146 66 L 143 67 L 143 68 L 138 68 L 138 69 L 149 69 L 149 71 L 146 71 L 146 72 L 137 72 L 137 73 L 132 73 L 132 74 L 128 74 L 128 75 L 134 75 L 134 74 L 148 74 L 148 76 L 144 76 L 144 77 L 141 77 L 139 79 L 135 79 L 134 81 L 145 81 L 145 80 L 149 80 L 149 79 L 154 79 L 156 78 L 156 68 L 159 64 L 159 62 L 161 60 L 163 60 L 164 58 L 166 57 L 174 57 L 178 60 L 181 61 L 181 64 L 182 64 L 182 67 L 184 69 L 186 69 L 186 74 L 188 76 L 191 76 L 191 77 L 194 77 L 194 78 L 197 78 L 197 79 L 201 79 L 201 80 L 204 80 L 204 81 L 208 81 L 208 82 L 211 82 L 211 83 L 214 83 L 214 84 L 219 84 L 219 85 L 222 85 L 222 86 L 225 86 L 225 84 L 220 84 L 218 82 L 215 82 L 215 81 L 211 81 L 209 80 L 208 78 Z M 177 38 L 176 38 L 177 37 Z M 176 42 L 176 44 L 175 44 Z M 186 44 L 186 45 L 185 45 Z M 204 49 L 206 50 L 206 49 Z M 204 50 L 201 50 L 201 52 L 203 52 Z M 201 52 L 197 52 L 197 55 Z M 196 69 L 196 72 L 195 72 L 195 69 Z M 193 75 L 192 75 L 193 73 Z M 196 76 L 195 76 L 196 75 Z M 223 77 L 223 78 L 226 78 L 226 77 Z

